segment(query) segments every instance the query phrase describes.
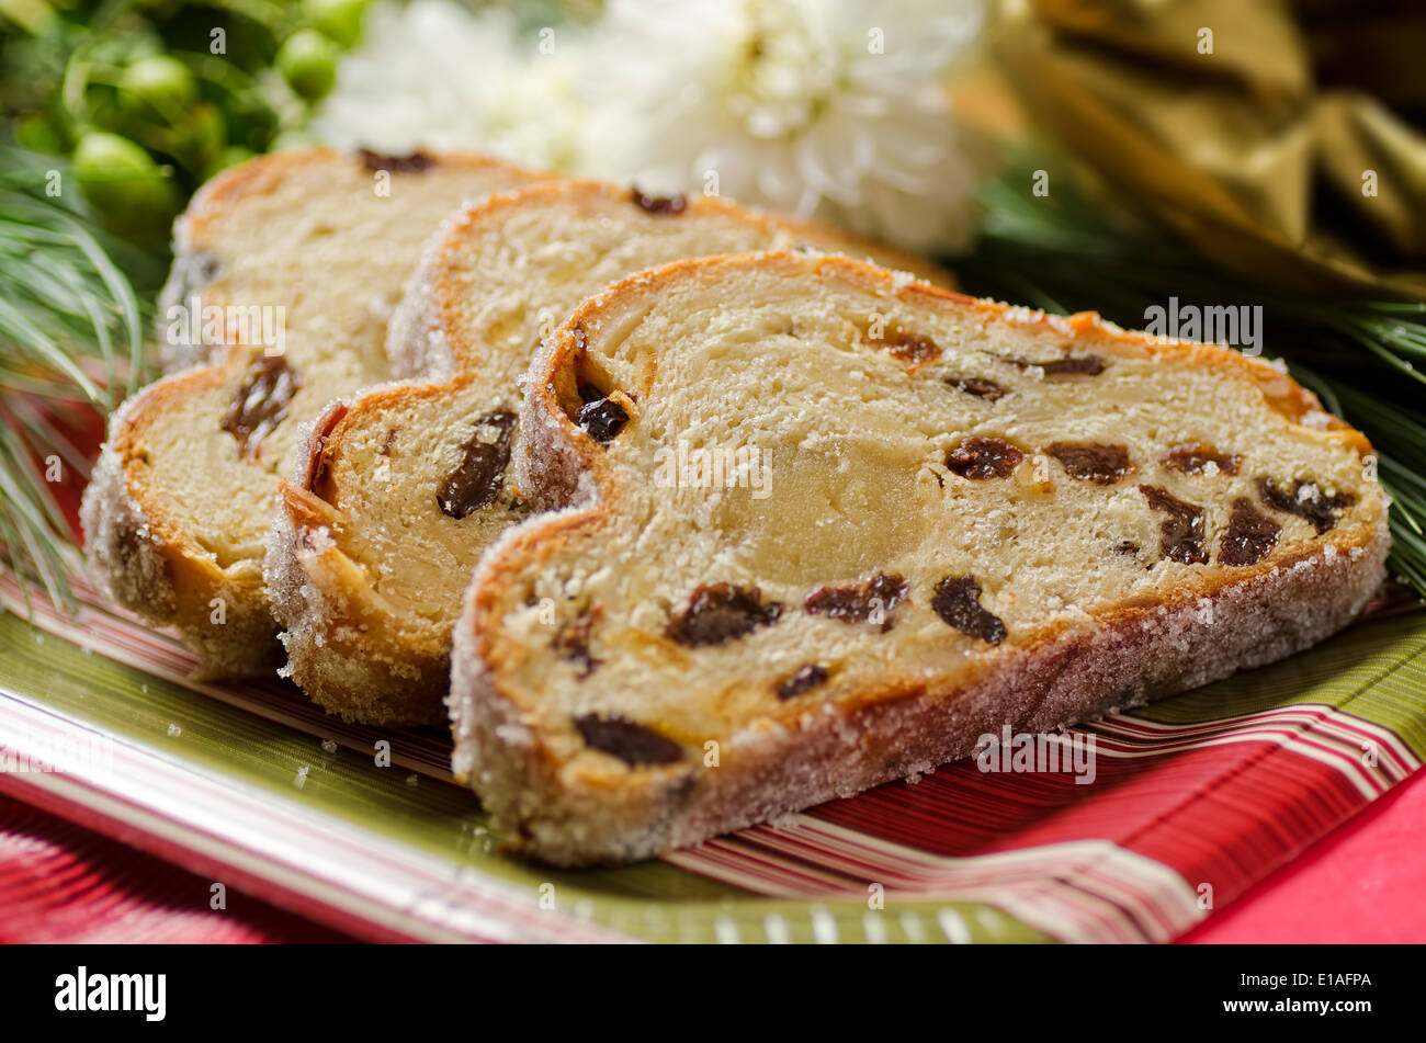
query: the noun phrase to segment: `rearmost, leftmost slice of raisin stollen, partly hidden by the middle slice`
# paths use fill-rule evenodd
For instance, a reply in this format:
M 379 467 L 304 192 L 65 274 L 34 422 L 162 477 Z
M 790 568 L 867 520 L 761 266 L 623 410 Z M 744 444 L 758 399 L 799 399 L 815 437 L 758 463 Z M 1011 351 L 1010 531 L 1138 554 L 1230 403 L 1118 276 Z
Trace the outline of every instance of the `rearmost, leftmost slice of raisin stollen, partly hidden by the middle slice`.
M 442 218 L 535 180 L 476 157 L 311 150 L 252 160 L 194 198 L 164 295 L 193 321 L 173 322 L 170 346 L 217 353 L 114 415 L 81 516 L 100 583 L 177 626 L 201 673 L 281 661 L 262 553 L 298 420 L 389 379 L 386 322 Z

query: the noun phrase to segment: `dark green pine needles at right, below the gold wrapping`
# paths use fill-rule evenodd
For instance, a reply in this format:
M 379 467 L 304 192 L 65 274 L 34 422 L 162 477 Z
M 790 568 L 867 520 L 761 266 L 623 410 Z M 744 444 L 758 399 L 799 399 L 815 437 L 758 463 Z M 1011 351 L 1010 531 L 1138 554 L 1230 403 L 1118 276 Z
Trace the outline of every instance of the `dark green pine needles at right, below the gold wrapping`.
M 1266 353 L 1372 440 L 1392 497 L 1389 567 L 1426 596 L 1426 302 L 1312 296 L 1246 279 L 1062 181 L 1034 195 L 1031 171 L 1041 168 L 1044 157 L 1020 157 L 987 184 L 983 237 L 955 262 L 967 292 L 1097 311 L 1131 329 L 1169 298 L 1261 305 Z

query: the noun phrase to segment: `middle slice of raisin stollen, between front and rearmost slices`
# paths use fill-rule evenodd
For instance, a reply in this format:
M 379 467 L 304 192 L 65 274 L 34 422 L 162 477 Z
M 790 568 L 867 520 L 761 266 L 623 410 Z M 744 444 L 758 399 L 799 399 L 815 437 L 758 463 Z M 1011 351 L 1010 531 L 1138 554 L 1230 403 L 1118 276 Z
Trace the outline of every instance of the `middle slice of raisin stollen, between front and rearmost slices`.
M 394 358 L 443 379 L 334 402 L 282 483 L 268 556 L 294 678 L 366 724 L 445 720 L 451 626 L 481 551 L 528 514 L 506 482 L 516 379 L 589 294 L 687 256 L 799 244 L 944 272 L 720 199 L 552 182 L 465 208 L 392 321 Z

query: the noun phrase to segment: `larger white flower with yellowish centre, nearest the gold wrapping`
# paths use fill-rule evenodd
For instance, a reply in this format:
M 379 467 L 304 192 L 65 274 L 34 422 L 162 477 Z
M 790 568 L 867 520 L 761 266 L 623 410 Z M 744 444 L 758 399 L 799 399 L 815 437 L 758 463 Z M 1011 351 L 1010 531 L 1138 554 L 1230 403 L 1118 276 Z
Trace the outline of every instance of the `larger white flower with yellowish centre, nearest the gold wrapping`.
M 586 171 L 964 247 L 977 171 L 943 76 L 981 23 L 978 0 L 612 0 Z

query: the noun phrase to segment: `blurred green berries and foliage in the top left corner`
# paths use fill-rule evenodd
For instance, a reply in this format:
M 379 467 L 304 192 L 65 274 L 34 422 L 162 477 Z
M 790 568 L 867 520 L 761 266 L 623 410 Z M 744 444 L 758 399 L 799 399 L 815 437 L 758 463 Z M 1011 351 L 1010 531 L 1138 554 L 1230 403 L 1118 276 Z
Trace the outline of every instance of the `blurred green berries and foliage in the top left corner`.
M 0 0 L 0 107 L 21 147 L 68 155 L 96 134 L 148 154 L 130 197 L 84 190 L 113 232 L 161 247 L 177 208 L 235 155 L 307 125 L 366 0 Z M 41 11 L 41 16 L 36 16 Z M 20 17 L 24 13 L 29 17 Z M 78 157 L 77 157 L 78 160 Z

